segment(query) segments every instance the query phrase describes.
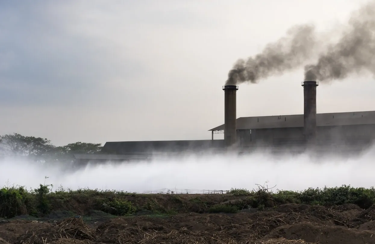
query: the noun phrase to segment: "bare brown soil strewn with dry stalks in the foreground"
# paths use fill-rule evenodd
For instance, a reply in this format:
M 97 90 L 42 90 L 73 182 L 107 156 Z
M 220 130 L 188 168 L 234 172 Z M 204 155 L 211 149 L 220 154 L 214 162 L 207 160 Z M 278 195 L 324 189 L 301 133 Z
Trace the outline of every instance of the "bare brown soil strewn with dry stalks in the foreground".
M 136 206 L 150 198 L 129 196 Z M 75 208 L 56 209 L 43 219 L 0 220 L 0 244 L 375 244 L 375 206 L 363 210 L 353 204 L 330 208 L 283 204 L 230 214 L 205 211 L 208 203 L 243 202 L 235 198 L 153 195 L 156 208 L 180 206 L 180 213 L 127 217 L 90 209 L 90 204 L 76 199 L 80 203 Z

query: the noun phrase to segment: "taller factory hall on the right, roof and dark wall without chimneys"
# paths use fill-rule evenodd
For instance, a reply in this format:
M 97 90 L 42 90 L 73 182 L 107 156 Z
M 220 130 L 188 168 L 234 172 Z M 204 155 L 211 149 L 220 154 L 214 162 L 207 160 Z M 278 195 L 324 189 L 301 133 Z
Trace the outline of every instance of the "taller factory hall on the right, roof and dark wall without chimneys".
M 237 118 L 237 142 L 240 147 L 300 145 L 305 143 L 305 117 L 276 115 Z M 210 129 L 221 133 L 224 124 Z M 318 145 L 361 145 L 375 139 L 375 111 L 316 114 Z

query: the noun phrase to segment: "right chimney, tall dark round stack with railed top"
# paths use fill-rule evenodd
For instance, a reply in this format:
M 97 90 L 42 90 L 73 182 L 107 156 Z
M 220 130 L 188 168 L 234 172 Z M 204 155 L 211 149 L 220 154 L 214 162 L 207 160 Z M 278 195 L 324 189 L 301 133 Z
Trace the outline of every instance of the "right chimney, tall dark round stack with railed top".
M 317 138 L 317 86 L 318 81 L 303 81 L 303 134 L 307 142 Z

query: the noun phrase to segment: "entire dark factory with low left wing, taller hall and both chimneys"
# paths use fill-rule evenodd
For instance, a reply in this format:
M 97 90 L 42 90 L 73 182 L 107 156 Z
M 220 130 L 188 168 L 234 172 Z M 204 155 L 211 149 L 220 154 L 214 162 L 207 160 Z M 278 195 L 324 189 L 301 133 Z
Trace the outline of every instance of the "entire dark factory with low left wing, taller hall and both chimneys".
M 301 151 L 306 147 L 331 150 L 332 147 L 343 145 L 343 151 L 361 151 L 371 145 L 375 139 L 375 111 L 317 114 L 318 85 L 317 81 L 302 82 L 303 114 L 240 118 L 236 117 L 239 87 L 225 85 L 222 87 L 224 124 L 209 130 L 211 140 L 107 142 L 102 150 L 104 155 L 77 154 L 75 159 L 85 163 L 150 160 L 158 153 L 231 149 L 247 152 L 259 147 L 278 148 L 279 151 L 294 147 Z M 214 140 L 217 133 L 224 133 L 224 139 Z

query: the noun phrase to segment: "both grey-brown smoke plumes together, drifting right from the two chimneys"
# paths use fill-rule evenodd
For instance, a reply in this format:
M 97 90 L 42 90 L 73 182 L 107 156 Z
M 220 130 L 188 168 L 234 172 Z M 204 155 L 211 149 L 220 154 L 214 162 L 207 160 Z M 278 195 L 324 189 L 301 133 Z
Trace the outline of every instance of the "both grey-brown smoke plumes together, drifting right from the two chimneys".
M 226 85 L 257 83 L 272 75 L 281 75 L 306 64 L 322 48 L 315 64 L 305 66 L 305 81 L 344 79 L 353 72 L 367 69 L 375 74 L 375 1 L 351 14 L 344 33 L 336 43 L 323 43 L 314 25 L 291 28 L 287 36 L 255 57 L 240 59 L 229 71 Z M 326 38 L 325 38 L 326 39 Z

